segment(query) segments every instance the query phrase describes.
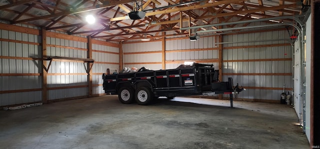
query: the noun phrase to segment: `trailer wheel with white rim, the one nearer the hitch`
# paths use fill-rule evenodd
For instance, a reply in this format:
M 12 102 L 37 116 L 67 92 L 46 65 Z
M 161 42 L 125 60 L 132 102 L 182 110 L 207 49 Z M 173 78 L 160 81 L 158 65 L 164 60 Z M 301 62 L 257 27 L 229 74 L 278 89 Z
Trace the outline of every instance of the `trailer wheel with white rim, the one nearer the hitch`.
M 135 100 L 139 105 L 147 105 L 152 98 L 152 92 L 146 87 L 140 87 L 135 92 Z

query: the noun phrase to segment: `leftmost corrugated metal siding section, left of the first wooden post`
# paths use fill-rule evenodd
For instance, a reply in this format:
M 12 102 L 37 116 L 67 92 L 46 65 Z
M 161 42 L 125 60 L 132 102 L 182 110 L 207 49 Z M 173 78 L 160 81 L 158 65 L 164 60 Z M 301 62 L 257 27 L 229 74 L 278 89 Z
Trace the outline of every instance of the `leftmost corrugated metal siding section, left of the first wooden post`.
M 0 30 L 0 38 L 18 41 L 39 42 L 33 34 Z M 38 45 L 0 41 L 0 56 L 38 57 Z M 37 60 L 0 59 L 0 73 L 40 73 Z M 40 89 L 40 76 L 0 76 L 0 91 Z M 0 106 L 41 101 L 41 91 L 0 94 Z

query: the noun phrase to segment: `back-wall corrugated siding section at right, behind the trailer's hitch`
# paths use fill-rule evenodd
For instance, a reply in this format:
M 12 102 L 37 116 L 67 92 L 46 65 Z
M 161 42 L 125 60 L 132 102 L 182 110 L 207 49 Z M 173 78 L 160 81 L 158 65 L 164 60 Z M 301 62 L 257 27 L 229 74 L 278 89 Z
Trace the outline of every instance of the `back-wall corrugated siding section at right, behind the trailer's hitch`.
M 288 38 L 286 30 L 257 32 L 250 34 L 237 34 L 223 36 L 223 42 L 236 41 L 255 41 L 269 39 Z M 259 42 L 239 42 L 223 44 L 223 47 L 245 46 L 245 45 L 269 45 L 288 43 L 284 40 L 276 41 L 259 41 Z M 280 59 L 292 58 L 292 49 L 290 45 L 273 46 L 273 47 L 251 47 L 251 48 L 234 48 L 223 50 L 223 60 L 245 60 L 239 62 L 223 62 L 223 73 L 292 73 L 291 60 L 279 61 L 257 61 L 261 59 Z M 246 61 L 252 60 L 252 61 Z M 239 83 L 248 87 L 266 87 L 266 88 L 292 88 L 292 76 L 283 75 L 233 75 L 223 76 L 223 81 L 227 77 L 233 78 L 233 83 Z M 238 95 L 238 98 L 247 99 L 264 99 L 279 100 L 282 90 L 265 90 L 265 89 L 247 89 Z M 227 96 L 225 96 L 227 97 Z

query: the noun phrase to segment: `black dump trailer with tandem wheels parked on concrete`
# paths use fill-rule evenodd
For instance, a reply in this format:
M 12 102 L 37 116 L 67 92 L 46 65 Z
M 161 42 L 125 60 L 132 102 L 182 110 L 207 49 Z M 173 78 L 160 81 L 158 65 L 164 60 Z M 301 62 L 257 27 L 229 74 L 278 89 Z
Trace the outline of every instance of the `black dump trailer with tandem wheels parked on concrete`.
M 139 105 L 147 105 L 160 96 L 173 99 L 176 96 L 230 94 L 230 106 L 233 107 L 232 94 L 244 89 L 238 85 L 233 87 L 232 78 L 219 82 L 218 74 L 213 65 L 193 63 L 176 69 L 103 74 L 102 79 L 105 93 L 117 94 L 123 104 L 135 100 Z

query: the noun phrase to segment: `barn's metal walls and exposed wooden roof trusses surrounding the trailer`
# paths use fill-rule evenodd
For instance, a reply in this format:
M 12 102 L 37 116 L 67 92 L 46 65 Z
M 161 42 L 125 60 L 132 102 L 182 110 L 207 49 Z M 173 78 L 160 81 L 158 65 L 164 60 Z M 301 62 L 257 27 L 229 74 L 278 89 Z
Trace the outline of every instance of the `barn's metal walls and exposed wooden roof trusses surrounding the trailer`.
M 108 98 L 102 85 L 107 69 L 163 70 L 195 62 L 213 64 L 220 81 L 232 77 L 245 88 L 235 101 L 280 105 L 281 94 L 290 95 L 285 108 L 294 109 L 299 134 L 307 147 L 320 148 L 319 5 L 319 0 L 0 0 L 0 121 L 27 110 L 25 105 Z M 144 15 L 132 18 L 133 11 Z M 89 14 L 95 23 L 86 22 Z M 229 95 L 192 98 L 223 101 Z M 236 148 L 247 147 L 231 147 Z

